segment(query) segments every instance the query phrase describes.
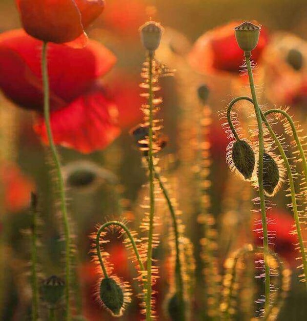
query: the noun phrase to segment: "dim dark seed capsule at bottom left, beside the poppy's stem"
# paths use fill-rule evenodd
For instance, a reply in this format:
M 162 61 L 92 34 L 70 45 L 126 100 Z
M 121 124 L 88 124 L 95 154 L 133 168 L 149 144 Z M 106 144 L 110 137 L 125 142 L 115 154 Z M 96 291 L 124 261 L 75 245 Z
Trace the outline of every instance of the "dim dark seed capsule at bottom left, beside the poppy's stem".
M 63 298 L 65 283 L 53 275 L 41 284 L 42 300 L 50 306 L 56 306 Z

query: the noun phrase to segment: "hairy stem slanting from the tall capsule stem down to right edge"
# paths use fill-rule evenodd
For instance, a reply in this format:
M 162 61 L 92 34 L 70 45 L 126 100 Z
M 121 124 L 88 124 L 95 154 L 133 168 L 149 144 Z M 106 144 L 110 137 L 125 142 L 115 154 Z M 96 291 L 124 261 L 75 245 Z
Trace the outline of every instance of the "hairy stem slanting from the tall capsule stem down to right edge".
M 288 175 L 288 179 L 289 179 L 289 185 L 290 185 L 291 201 L 292 201 L 292 205 L 293 205 L 293 215 L 294 215 L 295 226 L 296 226 L 296 231 L 297 231 L 297 238 L 298 238 L 300 252 L 301 252 L 302 261 L 303 261 L 303 271 L 304 271 L 304 275 L 305 275 L 305 280 L 307 280 L 306 252 L 305 252 L 305 248 L 304 248 L 304 241 L 303 241 L 303 236 L 302 236 L 301 227 L 300 227 L 300 223 L 299 223 L 299 215 L 298 215 L 298 208 L 297 208 L 297 202 L 296 202 L 296 193 L 295 193 L 295 186 L 294 186 L 293 176 L 292 176 L 292 172 L 291 172 L 291 167 L 290 167 L 287 155 L 286 155 L 286 153 L 284 153 L 284 150 L 282 148 L 280 141 L 278 140 L 276 134 L 274 133 L 265 114 L 262 112 L 261 112 L 261 117 L 262 117 L 266 127 L 268 128 L 272 138 L 274 139 L 275 144 L 278 147 L 279 153 L 283 159 L 284 165 L 286 166 L 287 175 Z M 307 287 L 307 282 L 305 282 L 305 285 Z

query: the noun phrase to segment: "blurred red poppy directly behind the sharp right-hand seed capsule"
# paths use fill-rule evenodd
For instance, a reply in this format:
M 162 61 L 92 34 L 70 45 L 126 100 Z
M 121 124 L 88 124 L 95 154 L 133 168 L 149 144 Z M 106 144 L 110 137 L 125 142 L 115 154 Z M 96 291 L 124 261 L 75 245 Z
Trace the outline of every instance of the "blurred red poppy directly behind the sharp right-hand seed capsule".
M 201 73 L 214 71 L 238 73 L 244 57 L 243 50 L 235 40 L 233 29 L 240 23 L 240 21 L 230 22 L 206 32 L 196 40 L 189 54 L 191 66 Z M 262 28 L 258 45 L 252 52 L 253 61 L 259 60 L 267 43 L 268 34 L 266 29 Z

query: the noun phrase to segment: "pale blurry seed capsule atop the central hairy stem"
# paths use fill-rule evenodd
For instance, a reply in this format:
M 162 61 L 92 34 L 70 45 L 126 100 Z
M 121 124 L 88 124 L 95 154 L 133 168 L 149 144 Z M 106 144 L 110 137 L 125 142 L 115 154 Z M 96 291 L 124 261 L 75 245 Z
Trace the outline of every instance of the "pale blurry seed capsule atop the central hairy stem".
M 140 28 L 141 41 L 143 46 L 149 51 L 154 52 L 158 49 L 161 41 L 163 28 L 160 23 L 147 21 Z

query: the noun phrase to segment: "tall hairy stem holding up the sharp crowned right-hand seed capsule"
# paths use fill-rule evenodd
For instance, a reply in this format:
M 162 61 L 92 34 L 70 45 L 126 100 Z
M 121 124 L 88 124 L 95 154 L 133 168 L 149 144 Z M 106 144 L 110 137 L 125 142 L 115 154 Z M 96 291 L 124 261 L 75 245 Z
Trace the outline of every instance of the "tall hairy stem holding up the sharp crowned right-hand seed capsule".
M 264 131 L 262 128 L 261 111 L 257 100 L 253 72 L 250 61 L 250 54 L 245 54 L 245 61 L 248 71 L 249 83 L 251 94 L 253 98 L 257 123 L 258 123 L 258 138 L 259 138 L 259 160 L 258 160 L 258 185 L 259 185 L 259 197 L 260 197 L 260 209 L 261 209 L 261 221 L 263 230 L 263 242 L 264 242 L 264 261 L 265 261 L 265 319 L 270 306 L 270 265 L 269 265 L 269 239 L 268 239 L 268 226 L 267 226 L 267 214 L 265 203 L 265 191 L 263 182 L 264 172 Z

